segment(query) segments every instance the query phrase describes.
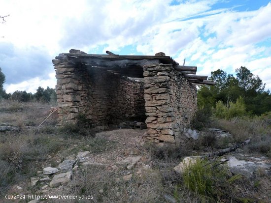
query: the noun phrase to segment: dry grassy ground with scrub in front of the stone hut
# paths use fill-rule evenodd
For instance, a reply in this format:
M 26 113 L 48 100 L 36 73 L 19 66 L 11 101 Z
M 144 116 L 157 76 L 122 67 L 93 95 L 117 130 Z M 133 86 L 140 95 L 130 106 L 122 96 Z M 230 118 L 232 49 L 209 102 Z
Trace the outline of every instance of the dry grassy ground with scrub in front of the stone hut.
M 217 165 L 219 158 L 214 158 L 199 160 L 183 174 L 173 170 L 185 156 L 217 151 L 246 139 L 251 139 L 251 144 L 245 146 L 243 153 L 270 157 L 271 128 L 268 116 L 215 120 L 209 123 L 229 131 L 234 135 L 233 139 L 219 141 L 203 128 L 202 134 L 205 136 L 198 141 L 187 142 L 184 146 L 161 147 L 148 142 L 135 143 L 135 136 L 129 137 L 129 134 L 143 137 L 144 132 L 134 132 L 132 129 L 117 135 L 116 132 L 122 131 L 110 131 L 106 136 L 99 137 L 95 136 L 93 129 L 84 128 L 82 124 L 56 128 L 56 115 L 38 127 L 49 115 L 51 106 L 55 105 L 1 102 L 0 125 L 19 127 L 15 131 L 0 132 L 1 197 L 5 194 L 66 192 L 66 195 L 91 194 L 94 196 L 91 202 L 97 203 L 260 203 L 268 202 L 268 198 L 271 198 L 261 197 L 261 190 L 268 184 L 266 181 L 270 182 L 271 176 L 260 169 L 253 178 L 248 179 L 231 174 L 227 164 Z M 125 167 L 112 169 L 113 158 L 125 158 L 126 151 L 130 153 L 134 149 L 135 154 L 142 157 L 139 164 L 130 170 Z M 90 151 L 95 160 L 102 160 L 101 163 L 105 164 L 83 166 L 79 163 L 72 181 L 57 190 L 42 192 L 40 184 L 31 186 L 30 178 L 37 176 L 43 167 L 57 167 L 65 157 L 80 151 Z M 132 174 L 132 178 L 125 181 L 123 176 L 129 174 Z M 18 190 L 18 185 L 23 189 Z

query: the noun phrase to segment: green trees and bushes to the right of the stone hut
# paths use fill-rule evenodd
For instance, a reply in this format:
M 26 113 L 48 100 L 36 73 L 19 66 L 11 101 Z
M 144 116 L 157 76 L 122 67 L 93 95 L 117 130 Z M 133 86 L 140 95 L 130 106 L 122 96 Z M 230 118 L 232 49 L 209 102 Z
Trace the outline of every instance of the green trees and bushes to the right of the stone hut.
M 241 66 L 233 74 L 218 69 L 211 72 L 215 86 L 201 86 L 198 90 L 198 108 L 214 109 L 215 116 L 262 115 L 271 111 L 271 95 L 259 76 Z

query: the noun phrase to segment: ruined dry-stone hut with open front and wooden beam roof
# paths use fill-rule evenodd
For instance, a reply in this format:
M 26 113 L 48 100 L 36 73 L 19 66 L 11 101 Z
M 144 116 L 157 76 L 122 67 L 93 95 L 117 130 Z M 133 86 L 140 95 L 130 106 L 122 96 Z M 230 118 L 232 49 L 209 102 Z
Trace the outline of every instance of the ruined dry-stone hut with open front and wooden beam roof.
M 126 120 L 146 123 L 149 139 L 180 143 L 197 110 L 197 85 L 214 85 L 197 76 L 197 67 L 179 65 L 164 53 L 155 56 L 86 54 L 70 50 L 53 59 L 59 124 L 85 115 L 93 126 Z

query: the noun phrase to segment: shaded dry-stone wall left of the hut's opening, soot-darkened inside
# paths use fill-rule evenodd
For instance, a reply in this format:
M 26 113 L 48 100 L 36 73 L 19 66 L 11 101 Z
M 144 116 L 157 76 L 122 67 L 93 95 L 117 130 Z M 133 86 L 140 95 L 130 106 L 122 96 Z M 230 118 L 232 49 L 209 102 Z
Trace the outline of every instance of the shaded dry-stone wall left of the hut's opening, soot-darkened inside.
M 59 124 L 73 122 L 81 113 L 93 126 L 118 123 L 130 116 L 142 116 L 144 87 L 99 68 L 53 60 L 59 105 Z

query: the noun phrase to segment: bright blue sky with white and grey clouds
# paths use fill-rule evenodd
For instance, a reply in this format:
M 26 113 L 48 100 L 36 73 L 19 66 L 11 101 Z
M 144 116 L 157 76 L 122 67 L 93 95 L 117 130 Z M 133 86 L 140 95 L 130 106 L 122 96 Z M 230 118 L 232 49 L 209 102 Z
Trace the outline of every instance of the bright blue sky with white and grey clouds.
M 55 87 L 52 59 L 154 55 L 198 66 L 198 75 L 246 66 L 271 90 L 270 0 L 1 0 L 0 67 L 7 92 Z

